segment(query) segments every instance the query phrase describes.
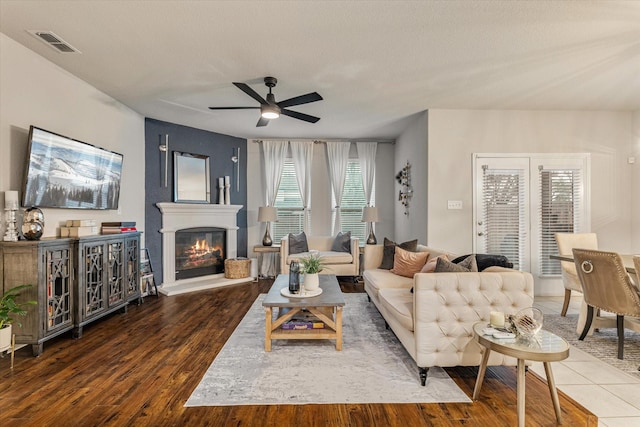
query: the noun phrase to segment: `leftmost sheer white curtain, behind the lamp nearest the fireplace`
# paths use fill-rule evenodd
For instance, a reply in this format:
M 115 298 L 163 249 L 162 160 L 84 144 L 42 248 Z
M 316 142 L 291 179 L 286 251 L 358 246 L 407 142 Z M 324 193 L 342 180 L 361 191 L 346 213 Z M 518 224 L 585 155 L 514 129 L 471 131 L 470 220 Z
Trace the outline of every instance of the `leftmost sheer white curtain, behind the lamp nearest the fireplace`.
M 262 155 L 264 157 L 265 202 L 267 206 L 274 206 L 284 159 L 287 156 L 288 141 L 262 141 Z M 278 254 L 263 254 L 262 275 L 275 276 L 279 265 Z

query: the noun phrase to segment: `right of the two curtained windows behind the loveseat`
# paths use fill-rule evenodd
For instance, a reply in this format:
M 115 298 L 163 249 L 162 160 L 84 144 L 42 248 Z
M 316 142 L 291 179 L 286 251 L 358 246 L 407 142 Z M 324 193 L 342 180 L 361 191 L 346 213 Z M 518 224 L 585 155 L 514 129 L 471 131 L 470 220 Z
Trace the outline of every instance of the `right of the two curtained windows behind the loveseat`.
M 335 199 L 332 195 L 332 204 Z M 375 187 L 372 191 L 372 199 L 375 200 Z M 342 190 L 342 205 L 340 206 L 340 222 L 342 232 L 351 231 L 352 237 L 357 237 L 360 242 L 367 239 L 367 223 L 362 222 L 362 209 L 367 205 L 362 185 L 362 173 L 358 159 L 349 159 L 345 176 L 344 189 Z

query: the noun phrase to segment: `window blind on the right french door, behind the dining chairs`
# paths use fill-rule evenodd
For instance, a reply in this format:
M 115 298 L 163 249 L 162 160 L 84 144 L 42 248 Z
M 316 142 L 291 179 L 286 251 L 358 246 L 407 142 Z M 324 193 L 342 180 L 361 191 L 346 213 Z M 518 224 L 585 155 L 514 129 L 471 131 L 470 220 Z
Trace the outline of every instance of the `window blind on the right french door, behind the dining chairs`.
M 555 233 L 581 232 L 583 224 L 583 179 L 580 169 L 539 167 L 540 206 L 538 221 L 540 276 L 561 274 L 560 261 L 549 259 L 558 254 Z

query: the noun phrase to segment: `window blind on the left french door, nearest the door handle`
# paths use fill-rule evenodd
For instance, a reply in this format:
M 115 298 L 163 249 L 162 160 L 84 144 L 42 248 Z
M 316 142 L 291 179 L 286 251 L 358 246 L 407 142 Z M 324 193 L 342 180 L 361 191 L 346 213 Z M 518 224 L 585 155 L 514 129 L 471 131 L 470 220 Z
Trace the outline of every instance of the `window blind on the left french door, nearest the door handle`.
M 501 254 L 515 269 L 525 264 L 525 171 L 483 166 L 482 203 L 485 253 Z

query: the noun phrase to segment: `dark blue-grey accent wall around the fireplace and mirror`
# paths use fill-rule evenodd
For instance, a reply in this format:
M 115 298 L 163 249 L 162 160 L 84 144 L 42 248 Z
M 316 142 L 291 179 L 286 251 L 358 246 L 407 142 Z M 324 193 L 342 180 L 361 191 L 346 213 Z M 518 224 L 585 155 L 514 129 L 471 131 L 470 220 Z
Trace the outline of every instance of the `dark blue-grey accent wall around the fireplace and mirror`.
M 169 152 L 160 145 L 169 135 Z M 240 149 L 240 191 L 236 191 L 236 169 L 231 157 Z M 149 249 L 157 284 L 162 283 L 162 215 L 158 202 L 173 202 L 173 152 L 209 156 L 211 203 L 218 202 L 217 178 L 231 177 L 231 204 L 242 205 L 238 212 L 238 256 L 247 256 L 247 140 L 194 129 L 155 119 L 145 119 L 145 245 Z M 164 187 L 164 160 L 168 154 L 168 185 Z M 142 196 L 142 195 L 141 195 Z

